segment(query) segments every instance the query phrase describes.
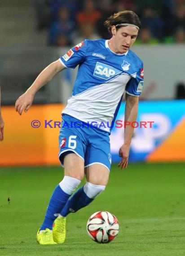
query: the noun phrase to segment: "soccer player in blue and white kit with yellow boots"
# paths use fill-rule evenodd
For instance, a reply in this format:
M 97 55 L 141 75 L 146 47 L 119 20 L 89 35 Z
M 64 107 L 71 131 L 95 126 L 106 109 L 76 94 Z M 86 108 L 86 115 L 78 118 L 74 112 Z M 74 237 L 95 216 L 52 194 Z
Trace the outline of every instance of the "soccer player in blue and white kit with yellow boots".
M 105 26 L 112 34 L 110 40 L 84 40 L 77 44 L 47 66 L 15 104 L 22 115 L 29 110 L 35 93 L 54 75 L 79 66 L 72 96 L 62 111 L 59 159 L 64 178 L 53 191 L 37 233 L 40 244 L 64 243 L 66 216 L 87 206 L 105 190 L 111 164 L 109 127 L 114 123 L 124 91 L 125 121 L 132 123 L 137 118 L 143 63 L 130 47 L 141 28 L 140 19 L 132 11 L 121 11 L 111 15 Z M 89 125 L 93 122 L 98 127 Z M 132 134 L 132 126 L 126 126 L 119 149 L 121 169 L 128 165 Z M 76 190 L 84 174 L 87 183 Z

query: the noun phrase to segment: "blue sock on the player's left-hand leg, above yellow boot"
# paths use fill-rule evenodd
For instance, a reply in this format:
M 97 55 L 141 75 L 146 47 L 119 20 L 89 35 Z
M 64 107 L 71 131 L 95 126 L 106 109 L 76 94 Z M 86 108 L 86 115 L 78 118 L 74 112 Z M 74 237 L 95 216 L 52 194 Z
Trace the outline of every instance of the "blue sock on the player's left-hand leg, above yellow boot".
M 53 222 L 57 218 L 57 215 L 62 211 L 62 208 L 69 199 L 70 194 L 65 193 L 59 185 L 56 186 L 51 199 L 49 201 L 44 222 L 40 227 L 40 230 L 53 229 Z

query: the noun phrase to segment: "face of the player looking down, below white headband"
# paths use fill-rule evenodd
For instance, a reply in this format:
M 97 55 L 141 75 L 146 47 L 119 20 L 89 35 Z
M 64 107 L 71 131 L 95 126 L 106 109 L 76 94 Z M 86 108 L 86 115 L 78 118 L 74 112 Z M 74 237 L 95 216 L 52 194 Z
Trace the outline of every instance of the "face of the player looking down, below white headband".
M 135 26 L 122 26 L 116 31 L 116 27 L 112 27 L 112 44 L 113 50 L 117 54 L 126 53 L 132 44 L 136 41 L 138 29 Z

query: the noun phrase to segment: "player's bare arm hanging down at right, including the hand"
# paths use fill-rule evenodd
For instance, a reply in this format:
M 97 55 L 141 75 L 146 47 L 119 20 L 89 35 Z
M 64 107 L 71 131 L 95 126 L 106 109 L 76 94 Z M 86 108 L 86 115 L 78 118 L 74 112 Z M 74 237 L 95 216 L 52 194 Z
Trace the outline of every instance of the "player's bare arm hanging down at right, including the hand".
M 130 150 L 131 139 L 133 135 L 134 128 L 132 127 L 132 122 L 137 119 L 139 97 L 132 96 L 126 93 L 126 105 L 125 105 L 125 130 L 124 130 L 124 143 L 119 149 L 119 157 L 121 161 L 119 162 L 119 167 L 121 169 L 127 168 L 128 165 L 128 155 Z M 126 123 L 129 122 L 129 123 Z

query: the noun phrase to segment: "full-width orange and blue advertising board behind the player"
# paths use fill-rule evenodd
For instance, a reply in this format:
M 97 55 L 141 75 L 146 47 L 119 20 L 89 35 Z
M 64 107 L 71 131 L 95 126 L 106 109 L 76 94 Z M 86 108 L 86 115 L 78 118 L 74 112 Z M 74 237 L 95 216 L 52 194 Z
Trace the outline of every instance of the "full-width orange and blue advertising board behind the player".
M 140 102 L 137 121 L 153 121 L 153 127 L 136 128 L 129 162 L 185 161 L 185 101 Z M 62 104 L 33 105 L 22 116 L 14 106 L 2 107 L 4 141 L 0 142 L 0 166 L 60 165 L 58 136 Z M 124 120 L 124 104 L 117 115 Z M 112 163 L 120 161 L 124 128 L 110 135 Z

